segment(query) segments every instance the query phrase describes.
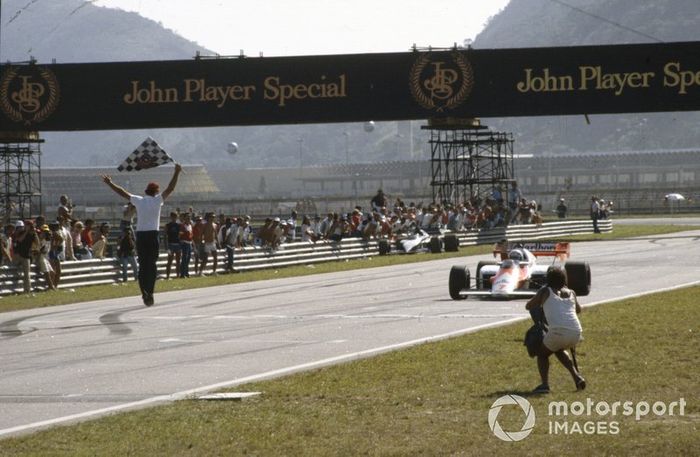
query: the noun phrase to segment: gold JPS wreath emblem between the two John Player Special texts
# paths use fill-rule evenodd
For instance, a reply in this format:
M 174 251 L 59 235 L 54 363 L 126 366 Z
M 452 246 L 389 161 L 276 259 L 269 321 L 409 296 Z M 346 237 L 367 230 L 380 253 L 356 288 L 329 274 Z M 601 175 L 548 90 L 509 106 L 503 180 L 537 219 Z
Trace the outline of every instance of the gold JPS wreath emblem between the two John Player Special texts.
M 433 54 L 422 54 L 413 64 L 409 78 L 413 98 L 436 112 L 461 105 L 474 85 L 472 67 L 462 53 L 453 51 L 440 56 L 443 59 L 433 61 Z

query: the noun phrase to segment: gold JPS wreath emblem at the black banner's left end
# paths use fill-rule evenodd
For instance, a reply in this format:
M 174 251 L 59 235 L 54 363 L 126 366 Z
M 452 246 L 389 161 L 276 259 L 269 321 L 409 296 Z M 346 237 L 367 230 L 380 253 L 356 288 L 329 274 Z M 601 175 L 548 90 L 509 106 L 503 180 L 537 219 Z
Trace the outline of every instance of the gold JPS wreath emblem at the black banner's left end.
M 9 67 L 0 79 L 0 108 L 8 118 L 24 125 L 49 117 L 59 95 L 56 76 L 45 67 Z

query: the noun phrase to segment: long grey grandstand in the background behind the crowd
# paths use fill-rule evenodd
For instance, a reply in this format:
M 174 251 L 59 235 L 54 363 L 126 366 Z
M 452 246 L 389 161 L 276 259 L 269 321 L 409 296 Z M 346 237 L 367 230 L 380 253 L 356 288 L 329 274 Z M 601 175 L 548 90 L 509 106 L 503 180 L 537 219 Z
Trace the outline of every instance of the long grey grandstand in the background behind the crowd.
M 700 179 L 698 149 L 516 155 L 514 166 L 515 177 L 525 195 L 545 208 L 556 206 L 558 198 L 566 197 L 571 210 L 583 211 L 593 193 L 614 200 L 618 209 L 630 210 L 653 209 L 670 192 L 700 200 L 696 185 Z M 326 202 L 319 207 L 325 211 L 335 206 L 352 207 L 354 202 L 366 203 L 379 188 L 389 196 L 416 201 L 427 201 L 431 194 L 427 160 L 316 165 L 303 169 L 207 170 L 203 165 L 184 168 L 185 174 L 172 197 L 173 206 L 200 203 L 211 209 L 221 207 L 228 211 L 229 207 L 235 207 L 248 212 L 264 207 L 266 212 L 274 211 L 277 204 L 255 206 L 250 202 L 315 198 Z M 172 167 L 127 174 L 98 167 L 44 168 L 45 207 L 51 208 L 64 193 L 73 198 L 74 204 L 85 207 L 115 204 L 114 195 L 99 179 L 101 173 L 110 173 L 118 184 L 141 192 L 151 180 L 165 185 Z

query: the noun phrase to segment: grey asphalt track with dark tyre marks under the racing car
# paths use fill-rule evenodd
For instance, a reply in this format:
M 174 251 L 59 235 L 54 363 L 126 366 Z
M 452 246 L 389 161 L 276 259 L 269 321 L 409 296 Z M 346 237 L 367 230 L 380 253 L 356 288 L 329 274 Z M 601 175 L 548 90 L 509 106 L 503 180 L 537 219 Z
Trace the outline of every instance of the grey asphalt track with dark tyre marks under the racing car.
M 449 299 L 450 266 L 486 258 L 2 313 L 0 438 L 524 318 L 522 300 Z M 584 306 L 698 283 L 698 258 L 700 230 L 572 252 L 591 264 Z

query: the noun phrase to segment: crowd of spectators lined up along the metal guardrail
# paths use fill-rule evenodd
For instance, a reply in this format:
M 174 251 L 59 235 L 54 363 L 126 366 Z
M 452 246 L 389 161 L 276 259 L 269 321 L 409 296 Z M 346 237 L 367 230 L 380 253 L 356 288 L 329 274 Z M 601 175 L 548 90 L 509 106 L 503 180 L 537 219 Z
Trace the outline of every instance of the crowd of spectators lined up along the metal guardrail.
M 483 200 L 477 197 L 457 204 L 404 203 L 400 198 L 390 202 L 379 190 L 369 208 L 356 206 L 347 213 L 302 215 L 291 211 L 288 218 L 270 217 L 253 228 L 250 216 L 200 213 L 193 208 L 170 213 L 164 225 L 161 246 L 168 252 L 166 279 L 187 278 L 190 267 L 194 275 L 209 271 L 216 273 L 219 250 L 225 254 L 224 271 L 232 272 L 237 249 L 257 246 L 275 250 L 290 241 L 315 243 L 332 242 L 348 237 L 365 240 L 408 237 L 419 231 L 468 231 L 503 227 L 507 224 L 539 223 L 538 206 L 521 197 L 517 184 L 508 191 L 508 204 L 500 188 Z M 512 200 L 517 198 L 517 200 Z M 111 226 L 97 224 L 93 219 L 78 220 L 66 195 L 62 195 L 56 210 L 56 220 L 46 223 L 42 216 L 34 221 L 17 221 L 4 227 L 0 235 L 0 255 L 4 265 L 14 264 L 22 276 L 25 292 L 31 291 L 30 265 L 36 265 L 49 289 L 55 289 L 61 279 L 61 262 L 116 258 L 121 265 L 120 279 L 126 282 L 131 269 L 138 277 L 136 243 L 133 230 L 136 216 L 134 206 L 124 206 L 119 221 L 119 235 L 110 240 Z M 210 263 L 211 261 L 211 263 Z

